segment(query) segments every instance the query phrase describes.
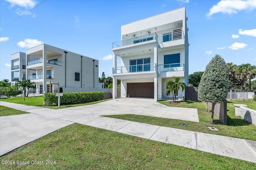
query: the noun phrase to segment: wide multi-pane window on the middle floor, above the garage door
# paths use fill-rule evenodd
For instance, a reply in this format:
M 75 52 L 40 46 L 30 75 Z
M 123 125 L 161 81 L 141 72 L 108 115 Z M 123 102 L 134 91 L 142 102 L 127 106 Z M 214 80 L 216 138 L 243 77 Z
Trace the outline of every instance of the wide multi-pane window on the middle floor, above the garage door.
M 130 72 L 150 71 L 150 58 L 130 60 Z

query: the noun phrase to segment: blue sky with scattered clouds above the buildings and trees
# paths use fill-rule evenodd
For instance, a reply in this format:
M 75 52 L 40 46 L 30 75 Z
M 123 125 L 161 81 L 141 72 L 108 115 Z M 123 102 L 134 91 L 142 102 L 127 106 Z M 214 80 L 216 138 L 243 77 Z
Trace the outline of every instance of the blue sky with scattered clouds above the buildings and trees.
M 215 54 L 256 65 L 256 0 L 0 0 L 0 80 L 11 79 L 10 55 L 42 43 L 99 60 L 112 74 L 112 42 L 121 25 L 186 7 L 189 74 Z

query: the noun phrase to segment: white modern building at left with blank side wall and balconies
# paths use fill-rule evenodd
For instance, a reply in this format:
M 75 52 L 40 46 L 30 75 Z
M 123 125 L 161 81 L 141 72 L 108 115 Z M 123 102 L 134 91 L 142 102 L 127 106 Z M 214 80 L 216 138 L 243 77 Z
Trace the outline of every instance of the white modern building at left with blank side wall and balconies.
M 36 91 L 83 92 L 104 88 L 98 82 L 98 60 L 42 44 L 11 55 L 12 84 L 30 79 Z M 51 87 L 50 87 L 51 84 Z

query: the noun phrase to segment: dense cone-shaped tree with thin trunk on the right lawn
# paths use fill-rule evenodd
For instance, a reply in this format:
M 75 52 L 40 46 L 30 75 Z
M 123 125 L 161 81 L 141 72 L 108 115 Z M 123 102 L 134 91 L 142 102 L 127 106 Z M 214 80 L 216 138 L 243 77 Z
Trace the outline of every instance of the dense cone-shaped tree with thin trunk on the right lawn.
M 215 55 L 202 75 L 198 86 L 198 100 L 212 103 L 213 123 L 214 106 L 226 101 L 229 85 L 228 68 L 220 55 Z

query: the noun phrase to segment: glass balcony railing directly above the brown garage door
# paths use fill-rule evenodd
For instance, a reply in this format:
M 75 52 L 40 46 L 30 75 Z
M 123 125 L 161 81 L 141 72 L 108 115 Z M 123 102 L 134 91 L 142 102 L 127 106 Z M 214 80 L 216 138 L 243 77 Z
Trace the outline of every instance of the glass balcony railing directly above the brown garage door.
M 156 71 L 156 63 L 114 67 L 113 74 Z

